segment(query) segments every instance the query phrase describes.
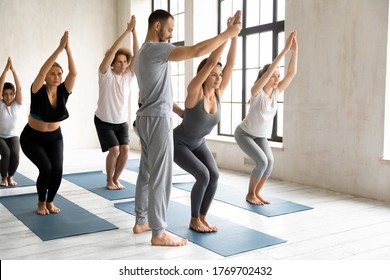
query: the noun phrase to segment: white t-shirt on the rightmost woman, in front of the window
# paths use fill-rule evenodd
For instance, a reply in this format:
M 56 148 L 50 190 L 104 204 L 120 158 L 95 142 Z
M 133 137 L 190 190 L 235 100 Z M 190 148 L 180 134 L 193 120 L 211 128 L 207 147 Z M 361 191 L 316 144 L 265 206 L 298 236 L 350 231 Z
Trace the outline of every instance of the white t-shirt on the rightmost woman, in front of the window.
M 270 137 L 273 119 L 278 109 L 279 89 L 275 88 L 271 97 L 261 90 L 259 95 L 251 96 L 248 115 L 240 127 L 255 137 Z

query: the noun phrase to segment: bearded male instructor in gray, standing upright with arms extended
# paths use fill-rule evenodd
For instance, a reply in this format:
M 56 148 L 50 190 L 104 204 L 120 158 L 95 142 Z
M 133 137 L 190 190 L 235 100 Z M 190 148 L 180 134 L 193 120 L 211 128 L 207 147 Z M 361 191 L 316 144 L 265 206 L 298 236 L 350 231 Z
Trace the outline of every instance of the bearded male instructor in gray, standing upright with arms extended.
M 240 16 L 237 12 L 235 17 Z M 152 12 L 148 20 L 146 40 L 135 57 L 135 74 L 140 90 L 141 108 L 136 127 L 141 142 L 141 164 L 138 174 L 134 233 L 152 230 L 152 245 L 183 246 L 186 239 L 165 231 L 166 212 L 172 185 L 173 111 L 171 70 L 169 61 L 181 61 L 208 54 L 241 30 L 241 23 L 229 21 L 218 36 L 193 46 L 175 47 L 172 38 L 173 16 L 164 10 Z

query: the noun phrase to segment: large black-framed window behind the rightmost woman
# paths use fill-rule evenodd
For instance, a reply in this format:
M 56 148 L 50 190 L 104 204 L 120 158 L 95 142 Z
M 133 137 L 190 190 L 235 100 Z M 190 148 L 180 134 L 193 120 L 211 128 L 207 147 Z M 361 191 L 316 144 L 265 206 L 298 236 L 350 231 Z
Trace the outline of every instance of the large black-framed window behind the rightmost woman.
M 233 135 L 246 116 L 250 90 L 262 66 L 271 63 L 284 47 L 285 0 L 219 0 L 219 31 L 226 29 L 227 18 L 236 10 L 243 12 L 242 30 L 238 37 L 236 66 L 222 100 L 222 120 L 218 134 Z M 284 62 L 280 74 L 284 73 Z M 282 141 L 283 94 L 274 119 L 271 140 Z

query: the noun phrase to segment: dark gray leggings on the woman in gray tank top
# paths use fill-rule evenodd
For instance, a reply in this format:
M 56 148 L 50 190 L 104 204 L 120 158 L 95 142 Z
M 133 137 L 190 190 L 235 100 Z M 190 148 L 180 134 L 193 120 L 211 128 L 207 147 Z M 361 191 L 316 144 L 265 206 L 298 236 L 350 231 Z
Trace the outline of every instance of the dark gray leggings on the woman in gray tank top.
M 175 139 L 174 160 L 192 176 L 195 184 L 191 190 L 191 216 L 206 215 L 217 191 L 219 171 L 213 155 L 205 142 L 194 150 Z

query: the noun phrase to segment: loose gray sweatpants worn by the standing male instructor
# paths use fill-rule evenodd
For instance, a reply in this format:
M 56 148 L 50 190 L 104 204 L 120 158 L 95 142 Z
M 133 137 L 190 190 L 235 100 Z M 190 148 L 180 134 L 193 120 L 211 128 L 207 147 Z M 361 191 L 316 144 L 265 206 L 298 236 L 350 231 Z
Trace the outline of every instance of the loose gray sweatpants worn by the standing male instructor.
M 167 208 L 172 186 L 172 119 L 138 117 L 141 163 L 135 192 L 136 223 L 149 222 L 153 235 L 167 227 Z

